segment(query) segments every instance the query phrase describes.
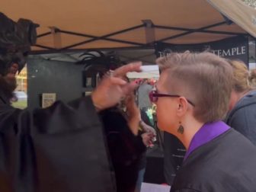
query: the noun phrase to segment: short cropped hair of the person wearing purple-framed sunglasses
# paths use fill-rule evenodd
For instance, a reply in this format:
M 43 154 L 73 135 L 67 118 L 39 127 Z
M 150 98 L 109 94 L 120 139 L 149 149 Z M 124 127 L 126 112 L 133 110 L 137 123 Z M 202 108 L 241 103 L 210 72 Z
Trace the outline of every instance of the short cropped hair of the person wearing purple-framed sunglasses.
M 194 102 L 194 117 L 203 123 L 222 120 L 229 106 L 232 67 L 213 53 L 171 53 L 157 59 L 168 72 L 165 86 Z

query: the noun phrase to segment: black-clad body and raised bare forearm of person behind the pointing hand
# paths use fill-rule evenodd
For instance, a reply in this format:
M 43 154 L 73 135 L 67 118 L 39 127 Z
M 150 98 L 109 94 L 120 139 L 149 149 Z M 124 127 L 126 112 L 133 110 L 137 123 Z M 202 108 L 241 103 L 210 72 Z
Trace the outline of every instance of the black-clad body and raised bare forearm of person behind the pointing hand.
M 142 153 L 146 151 L 139 135 L 139 109 L 134 96 L 130 95 L 129 98 L 125 102 L 126 112 L 116 106 L 100 113 L 114 167 L 117 192 L 135 191 Z

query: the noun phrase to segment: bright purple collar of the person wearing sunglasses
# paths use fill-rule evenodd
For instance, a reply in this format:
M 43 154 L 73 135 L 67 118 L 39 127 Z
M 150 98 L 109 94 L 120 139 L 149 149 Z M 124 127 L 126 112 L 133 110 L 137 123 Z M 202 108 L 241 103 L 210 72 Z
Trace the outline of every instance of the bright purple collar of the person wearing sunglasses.
M 205 123 L 200 128 L 200 130 L 197 131 L 197 133 L 191 140 L 190 146 L 188 147 L 186 155 L 184 156 L 184 161 L 195 149 L 197 149 L 200 146 L 203 146 L 203 144 L 206 144 L 206 142 L 210 142 L 211 140 L 221 135 L 222 133 L 225 133 L 229 129 L 230 127 L 222 121 L 216 121 L 214 123 Z

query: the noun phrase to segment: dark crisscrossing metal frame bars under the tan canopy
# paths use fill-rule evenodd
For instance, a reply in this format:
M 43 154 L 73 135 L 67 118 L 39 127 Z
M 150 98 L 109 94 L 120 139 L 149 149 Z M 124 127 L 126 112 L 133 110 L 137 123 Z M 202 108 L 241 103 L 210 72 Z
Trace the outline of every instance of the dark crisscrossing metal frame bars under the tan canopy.
M 162 26 L 162 25 L 156 25 L 156 24 L 153 24 L 153 23 L 149 24 L 149 22 L 146 22 L 146 21 L 142 21 L 142 22 L 143 22 L 143 24 L 139 24 L 139 25 L 136 25 L 134 27 L 129 27 L 129 28 L 126 28 L 126 29 L 123 29 L 123 30 L 118 30 L 118 31 L 115 31 L 115 32 L 110 33 L 110 34 L 106 34 L 104 36 L 94 36 L 94 35 L 90 35 L 90 34 L 80 34 L 80 33 L 76 33 L 76 32 L 69 31 L 69 30 L 61 30 L 61 29 L 58 29 L 58 28 L 53 28 L 51 32 L 46 32 L 44 34 L 37 35 L 37 39 L 39 39 L 41 37 L 46 37 L 46 36 L 49 36 L 49 35 L 52 35 L 52 34 L 70 34 L 70 35 L 74 35 L 74 36 L 78 36 L 78 37 L 88 37 L 88 38 L 91 38 L 91 39 L 84 40 L 82 42 L 75 43 L 75 44 L 72 44 L 72 45 L 69 45 L 69 46 L 65 46 L 65 47 L 62 47 L 60 49 L 50 47 L 50 46 L 43 46 L 43 45 L 40 45 L 40 44 L 36 44 L 34 46 L 37 46 L 37 47 L 40 47 L 40 48 L 43 48 L 43 49 L 46 49 L 46 50 L 33 51 L 32 54 L 33 53 L 37 54 L 37 53 L 66 52 L 66 51 L 70 51 L 70 49 L 72 49 L 75 46 L 85 45 L 87 43 L 91 43 L 91 42 L 94 42 L 94 41 L 97 41 L 97 40 L 108 40 L 108 41 L 117 42 L 117 43 L 126 43 L 126 44 L 130 44 L 131 46 L 133 46 L 132 47 L 133 49 L 134 48 L 140 48 L 140 49 L 143 48 L 143 49 L 145 49 L 145 48 L 152 48 L 152 45 L 155 42 L 164 42 L 165 40 L 173 40 L 175 38 L 183 37 L 187 34 L 193 34 L 193 33 L 226 34 L 226 35 L 232 35 L 232 36 L 245 36 L 245 37 L 250 36 L 249 34 L 245 34 L 245 33 L 234 33 L 234 32 L 229 32 L 229 31 L 208 30 L 211 27 L 218 27 L 218 26 L 221 26 L 223 24 L 230 24 L 227 21 L 222 21 L 222 22 L 219 22 L 219 23 L 216 23 L 216 24 L 210 24 L 210 25 L 207 25 L 205 27 L 199 27 L 199 28 L 195 28 L 195 29 L 184 28 L 184 27 Z M 118 40 L 118 39 L 115 39 L 115 38 L 110 38 L 114 35 L 123 34 L 123 33 L 130 32 L 130 31 L 142 28 L 142 27 L 144 27 L 146 30 L 148 30 L 149 28 L 151 28 L 152 30 L 154 30 L 155 28 L 156 29 L 165 29 L 165 30 L 180 30 L 181 34 L 175 34 L 173 36 L 165 37 L 163 39 L 156 40 L 156 41 L 153 41 L 153 42 L 150 42 L 150 43 L 138 43 L 138 42 L 133 42 L 133 41 L 129 41 L 129 40 Z M 125 46 L 125 47 L 119 47 L 119 48 L 105 48 L 103 50 L 127 49 L 127 48 L 131 48 L 131 46 Z M 88 50 L 88 49 L 80 49 L 80 50 Z M 89 49 L 89 50 L 96 50 L 96 49 Z M 97 48 L 97 50 L 99 50 L 99 48 Z M 74 51 L 74 50 L 72 50 L 72 51 Z

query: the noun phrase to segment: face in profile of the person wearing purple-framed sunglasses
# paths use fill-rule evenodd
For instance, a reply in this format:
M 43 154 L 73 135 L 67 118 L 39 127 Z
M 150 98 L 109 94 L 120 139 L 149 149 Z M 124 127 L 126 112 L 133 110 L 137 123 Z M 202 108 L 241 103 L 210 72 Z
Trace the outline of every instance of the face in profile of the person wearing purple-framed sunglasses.
M 169 93 L 165 88 L 165 85 L 168 85 L 167 77 L 167 72 L 162 72 L 160 75 L 156 85 L 156 90 L 159 94 L 175 94 Z M 159 129 L 165 130 L 168 133 L 173 133 L 172 130 L 178 127 L 178 118 L 175 113 L 178 105 L 177 98 L 159 97 L 155 104 Z

